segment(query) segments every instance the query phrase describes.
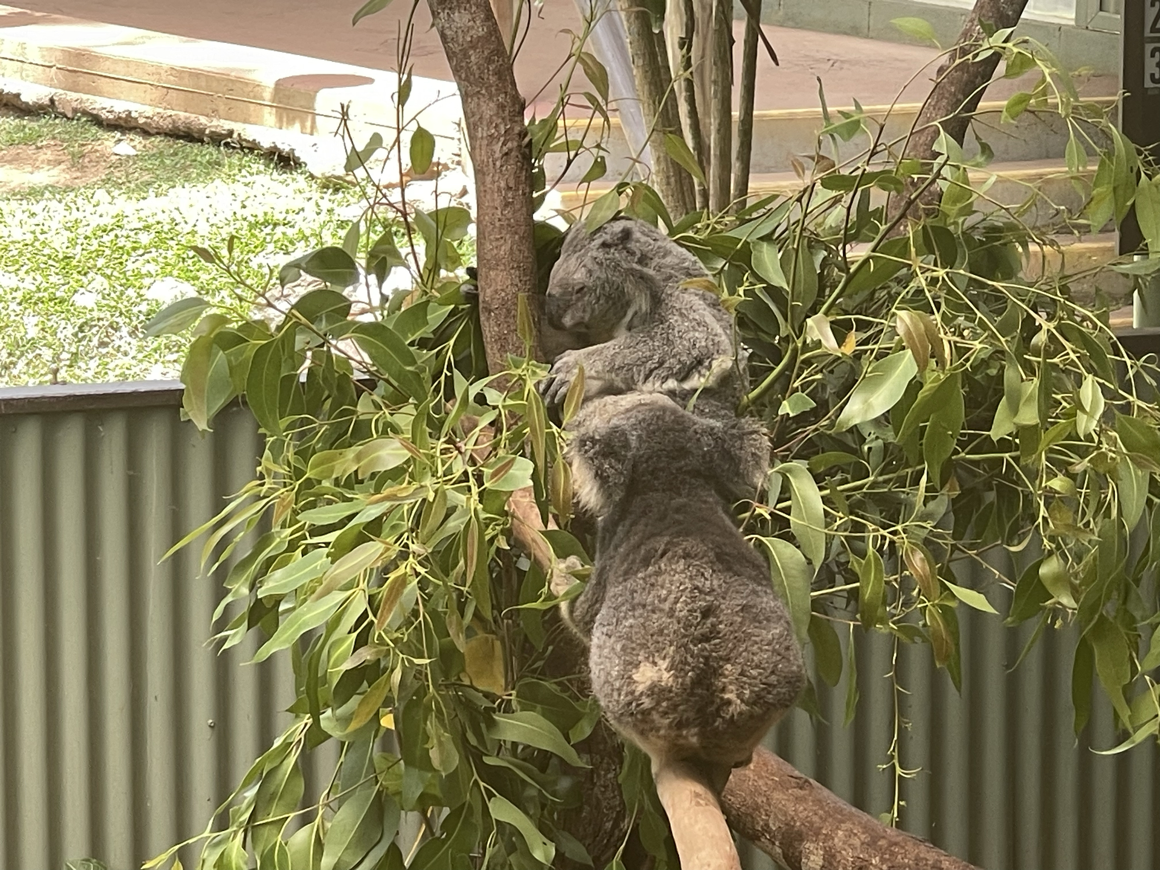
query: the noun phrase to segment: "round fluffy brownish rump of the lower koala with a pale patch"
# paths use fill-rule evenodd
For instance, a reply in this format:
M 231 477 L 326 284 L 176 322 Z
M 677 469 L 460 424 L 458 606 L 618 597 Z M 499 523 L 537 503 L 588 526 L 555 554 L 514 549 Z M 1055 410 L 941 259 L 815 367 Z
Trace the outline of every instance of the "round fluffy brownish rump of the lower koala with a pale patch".
M 748 560 L 723 566 L 715 549 L 669 541 L 647 567 L 609 575 L 589 661 L 615 727 L 732 764 L 793 703 L 804 672 L 768 575 L 739 571 Z

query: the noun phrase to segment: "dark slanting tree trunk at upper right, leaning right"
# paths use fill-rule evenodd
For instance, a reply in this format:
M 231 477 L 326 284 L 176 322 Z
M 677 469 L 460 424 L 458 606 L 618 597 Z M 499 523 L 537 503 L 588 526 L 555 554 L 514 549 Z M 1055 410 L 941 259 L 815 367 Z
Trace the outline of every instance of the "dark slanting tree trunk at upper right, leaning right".
M 955 43 L 955 50 L 938 68 L 935 86 L 919 111 L 904 157 L 922 160 L 929 165 L 935 159 L 934 146 L 941 131 L 945 131 L 947 136 L 959 145 L 963 144 L 971 124 L 971 115 L 979 108 L 987 84 L 999 67 L 998 52 L 974 63 L 970 63 L 966 58 L 978 50 L 986 38 L 983 23 L 987 23 L 993 30 L 1015 27 L 1023 16 L 1025 7 L 1027 0 L 976 0 L 974 8 Z M 889 218 L 897 217 L 921 183 L 921 179 L 912 180 L 904 193 L 891 198 Z M 938 187 L 933 184 L 911 206 L 911 216 L 919 218 L 936 209 L 940 197 Z M 900 226 L 905 229 L 905 225 Z

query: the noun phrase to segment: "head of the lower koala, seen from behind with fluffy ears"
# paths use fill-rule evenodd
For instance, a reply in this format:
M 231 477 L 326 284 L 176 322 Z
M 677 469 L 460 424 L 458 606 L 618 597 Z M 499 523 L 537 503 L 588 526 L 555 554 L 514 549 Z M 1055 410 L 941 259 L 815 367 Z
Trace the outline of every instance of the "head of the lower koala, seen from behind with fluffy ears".
M 568 428 L 573 491 L 597 516 L 630 491 L 753 498 L 769 471 L 769 442 L 755 421 L 701 418 L 660 393 L 593 399 Z

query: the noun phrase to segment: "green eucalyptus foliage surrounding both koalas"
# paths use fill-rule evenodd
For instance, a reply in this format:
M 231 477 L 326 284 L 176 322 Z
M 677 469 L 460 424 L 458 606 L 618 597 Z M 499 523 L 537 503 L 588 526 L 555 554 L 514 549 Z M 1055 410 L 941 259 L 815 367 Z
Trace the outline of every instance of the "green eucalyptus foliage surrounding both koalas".
M 1083 150 L 1108 167 L 1088 213 L 1108 202 L 1122 215 L 1141 189 L 1125 181 L 1136 152 L 1031 49 L 986 48 L 1009 68 L 1044 71 L 1024 109 L 1043 110 L 1039 92 L 1053 89 Z M 1096 677 L 1132 732 L 1117 749 L 1130 748 L 1157 730 L 1155 372 L 1124 356 L 1107 311 L 1075 302 L 1087 276 L 1027 274 L 1029 251 L 1052 241 L 1018 210 L 988 205 L 987 183 L 967 175 L 985 160 L 943 143 L 936 180 L 930 166 L 892 159 L 898 143 L 864 114 L 842 117 L 827 140 L 867 136 L 865 153 L 817 160 L 796 194 L 674 220 L 647 184 L 623 181 L 586 219 L 624 211 L 665 224 L 735 313 L 752 349 L 746 411 L 767 423 L 776 459 L 745 529 L 814 647 L 818 677 L 834 686 L 848 669 L 847 720 L 857 662 L 853 643 L 843 661 L 836 625 L 928 644 L 957 684 L 959 606 L 1006 608 L 1012 624 L 1079 626 L 1076 728 Z M 571 148 L 558 119 L 529 124 L 542 186 L 543 155 Z M 429 162 L 423 140 L 411 143 L 412 161 Z M 351 166 L 380 147 L 399 139 L 351 143 Z M 935 183 L 940 209 L 887 217 L 887 195 Z M 566 818 L 583 800 L 583 740 L 599 711 L 549 666 L 559 629 L 544 610 L 557 600 L 508 512 L 513 492 L 530 492 L 560 527 L 543 536 L 554 557 L 587 564 L 587 542 L 567 531 L 565 436 L 535 391 L 544 368 L 514 357 L 486 370 L 454 244 L 465 210 L 377 203 L 342 247 L 283 268 L 283 281 L 307 273 L 332 287 L 288 303 L 274 325 L 191 302 L 153 320 L 160 332 L 201 316 L 188 415 L 209 427 L 241 397 L 267 434 L 255 479 L 177 546 L 208 535 L 203 561 L 229 565 L 217 641 L 255 632 L 255 658 L 289 657 L 297 688 L 295 724 L 223 807 L 224 827 L 203 835 L 201 867 L 590 863 Z M 1024 211 L 1034 205 L 1032 191 Z M 543 273 L 559 233 L 542 225 L 537 239 Z M 251 274 L 231 251 L 203 259 Z M 405 267 L 413 289 L 353 314 L 339 290 L 355 263 L 380 277 Z M 268 289 L 239 283 L 255 298 Z M 1137 529 L 1148 539 L 1132 538 Z M 994 582 L 962 579 L 960 567 L 1003 565 L 993 557 L 1005 552 L 1012 567 L 993 568 Z M 302 760 L 327 741 L 340 746 L 334 778 L 303 799 Z M 658 867 L 675 867 L 640 753 L 626 752 L 621 784 L 640 841 Z M 418 835 L 396 842 L 401 818 Z

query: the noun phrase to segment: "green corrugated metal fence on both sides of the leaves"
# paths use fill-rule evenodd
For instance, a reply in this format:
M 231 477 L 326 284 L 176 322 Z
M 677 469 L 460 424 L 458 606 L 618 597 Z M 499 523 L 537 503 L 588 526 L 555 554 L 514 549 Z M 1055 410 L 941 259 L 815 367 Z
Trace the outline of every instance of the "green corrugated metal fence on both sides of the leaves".
M 179 421 L 172 385 L 0 390 L 0 870 L 92 856 L 129 870 L 198 833 L 285 723 L 284 657 L 204 646 L 219 595 L 196 548 L 158 565 L 252 476 L 261 447 L 244 411 L 210 435 Z M 965 608 L 960 608 L 960 611 Z M 1160 868 L 1154 744 L 1117 741 L 1096 703 L 1076 744 L 1071 655 L 1049 632 L 960 614 L 959 697 L 927 647 L 899 650 L 904 826 L 988 870 Z M 871 813 L 893 799 L 893 650 L 858 641 L 862 701 L 841 725 L 846 680 L 820 693 L 828 725 L 795 712 L 770 745 Z M 307 795 L 333 756 L 316 753 Z M 313 782 L 310 782 L 313 780 Z M 755 853 L 752 870 L 770 867 Z

